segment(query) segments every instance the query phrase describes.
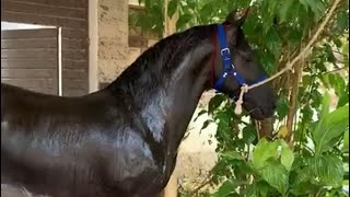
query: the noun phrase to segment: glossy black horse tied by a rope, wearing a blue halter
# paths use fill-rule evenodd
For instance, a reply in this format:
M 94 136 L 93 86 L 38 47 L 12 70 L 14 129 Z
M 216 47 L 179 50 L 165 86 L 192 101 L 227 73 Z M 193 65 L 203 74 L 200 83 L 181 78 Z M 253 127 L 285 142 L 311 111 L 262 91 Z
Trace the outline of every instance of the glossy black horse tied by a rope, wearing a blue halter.
M 168 36 L 85 96 L 1 84 L 1 184 L 54 197 L 159 194 L 203 91 L 224 79 L 220 91 L 234 96 L 236 74 L 246 83 L 265 74 L 245 40 L 244 19 Z M 271 84 L 246 93 L 243 106 L 256 119 L 270 117 Z

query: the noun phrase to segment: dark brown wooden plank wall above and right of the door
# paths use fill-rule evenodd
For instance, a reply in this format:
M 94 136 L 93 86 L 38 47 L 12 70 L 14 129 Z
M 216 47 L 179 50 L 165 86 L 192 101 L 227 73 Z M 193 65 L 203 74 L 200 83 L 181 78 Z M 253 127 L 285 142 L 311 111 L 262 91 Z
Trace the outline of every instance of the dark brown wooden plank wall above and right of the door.
M 1 21 L 61 27 L 62 92 L 89 92 L 88 0 L 1 0 Z

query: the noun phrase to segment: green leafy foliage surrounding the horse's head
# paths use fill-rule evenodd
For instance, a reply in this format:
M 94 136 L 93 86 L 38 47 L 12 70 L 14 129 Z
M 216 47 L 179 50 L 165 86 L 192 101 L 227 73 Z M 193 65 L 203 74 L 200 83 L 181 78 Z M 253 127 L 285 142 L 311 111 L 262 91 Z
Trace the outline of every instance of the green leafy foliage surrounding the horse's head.
M 145 14 L 135 18 L 143 31 L 163 33 L 164 1 L 142 0 Z M 295 57 L 318 30 L 331 0 L 257 0 L 244 24 L 244 33 L 257 58 L 271 74 Z M 177 31 L 222 22 L 233 9 L 250 0 L 171 0 L 167 14 L 178 13 Z M 158 8 L 154 8 L 158 7 Z M 155 18 L 156 15 L 156 18 Z M 203 127 L 218 125 L 219 161 L 211 171 L 210 196 L 346 196 L 349 183 L 349 2 L 342 0 L 313 46 L 298 62 L 300 79 L 285 74 L 275 80 L 279 101 L 272 118 L 275 130 L 261 138 L 259 130 L 242 120 L 234 104 L 218 94 L 207 109 Z M 147 21 L 143 22 L 142 20 Z M 293 85 L 298 80 L 298 85 Z M 291 90 L 296 90 L 291 107 Z M 334 104 L 332 93 L 338 97 Z M 293 118 L 292 126 L 285 125 Z M 288 136 L 292 134 L 293 139 Z M 346 182 L 345 182 L 346 181 Z M 208 193 L 190 196 L 208 196 Z

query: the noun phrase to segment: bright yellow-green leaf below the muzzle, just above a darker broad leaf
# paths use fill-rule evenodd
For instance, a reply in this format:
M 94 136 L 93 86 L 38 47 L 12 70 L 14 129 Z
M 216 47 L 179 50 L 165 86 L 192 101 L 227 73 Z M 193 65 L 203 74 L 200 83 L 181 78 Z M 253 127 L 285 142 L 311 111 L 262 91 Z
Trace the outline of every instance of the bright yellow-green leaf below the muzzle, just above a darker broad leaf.
M 259 170 L 267 164 L 267 160 L 272 158 L 278 158 L 278 142 L 269 142 L 265 138 L 260 139 L 256 144 L 253 152 L 253 165 L 255 169 Z

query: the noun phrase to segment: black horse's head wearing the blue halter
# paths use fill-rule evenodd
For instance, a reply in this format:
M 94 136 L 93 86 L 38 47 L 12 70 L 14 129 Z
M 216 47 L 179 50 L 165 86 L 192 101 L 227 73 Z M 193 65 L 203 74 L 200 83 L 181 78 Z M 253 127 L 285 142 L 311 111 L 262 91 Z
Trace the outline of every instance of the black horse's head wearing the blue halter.
M 218 56 L 214 68 L 214 88 L 235 99 L 238 97 L 242 85 L 259 82 L 266 76 L 242 31 L 247 11 L 241 16 L 235 11 L 231 12 L 222 26 L 223 34 L 220 35 L 218 26 L 214 39 Z M 223 43 L 226 43 L 229 49 L 223 46 Z M 226 57 L 230 57 L 231 60 L 224 62 Z M 276 97 L 271 83 L 262 84 L 245 93 L 243 107 L 255 119 L 260 120 L 272 116 Z

